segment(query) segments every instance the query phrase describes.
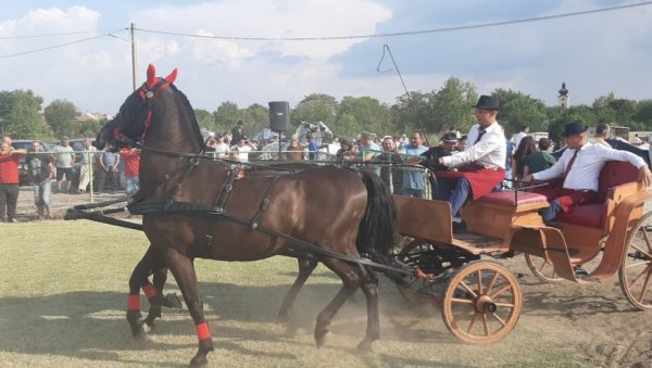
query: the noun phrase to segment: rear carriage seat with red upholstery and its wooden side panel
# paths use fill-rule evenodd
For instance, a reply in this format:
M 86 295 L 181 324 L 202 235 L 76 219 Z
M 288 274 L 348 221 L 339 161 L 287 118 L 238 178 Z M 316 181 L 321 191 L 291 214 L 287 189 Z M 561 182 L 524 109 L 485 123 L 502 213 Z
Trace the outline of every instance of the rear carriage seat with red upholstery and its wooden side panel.
M 609 161 L 602 167 L 598 186 L 598 203 L 585 204 L 568 213 L 561 213 L 560 223 L 603 229 L 616 204 L 637 192 L 638 169 L 628 162 Z

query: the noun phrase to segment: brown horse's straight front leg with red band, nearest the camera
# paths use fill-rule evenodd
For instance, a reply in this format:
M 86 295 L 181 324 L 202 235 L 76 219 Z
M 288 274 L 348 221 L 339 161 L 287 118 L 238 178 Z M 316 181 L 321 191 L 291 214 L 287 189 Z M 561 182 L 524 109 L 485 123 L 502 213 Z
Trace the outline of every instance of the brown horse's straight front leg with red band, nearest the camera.
M 191 366 L 203 366 L 208 364 L 206 355 L 213 351 L 213 338 L 209 323 L 204 318 L 203 302 L 199 295 L 197 287 L 197 275 L 195 272 L 195 266 L 192 259 L 188 256 L 180 254 L 174 249 L 168 248 L 165 251 L 165 263 L 172 275 L 177 281 L 184 300 L 195 321 L 197 329 L 197 338 L 199 340 L 199 348 L 195 357 L 190 360 Z

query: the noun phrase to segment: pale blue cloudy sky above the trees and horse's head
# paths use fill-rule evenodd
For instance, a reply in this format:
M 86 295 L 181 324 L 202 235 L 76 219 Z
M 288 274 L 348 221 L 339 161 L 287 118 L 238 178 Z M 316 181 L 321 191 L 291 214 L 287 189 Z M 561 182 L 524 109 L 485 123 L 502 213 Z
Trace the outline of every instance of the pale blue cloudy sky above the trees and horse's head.
M 645 4 L 460 29 L 637 3 Z M 513 89 L 548 105 L 562 81 L 570 104 L 610 92 L 652 98 L 652 2 L 643 0 L 0 0 L 0 90 L 30 89 L 43 107 L 62 99 L 116 113 L 133 89 L 130 24 L 138 86 L 150 63 L 160 76 L 177 67 L 177 88 L 211 112 L 225 101 L 294 106 L 310 93 L 391 104 L 404 91 L 384 45 L 411 91 L 454 76 L 478 94 Z M 341 38 L 283 39 L 291 37 Z

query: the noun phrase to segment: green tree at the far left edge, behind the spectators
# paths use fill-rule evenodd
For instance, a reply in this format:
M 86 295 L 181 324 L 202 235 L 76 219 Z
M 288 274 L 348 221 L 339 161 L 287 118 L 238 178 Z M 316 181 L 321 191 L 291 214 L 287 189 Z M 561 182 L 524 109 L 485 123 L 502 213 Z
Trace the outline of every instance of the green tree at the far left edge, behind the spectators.
M 32 90 L 0 91 L 0 129 L 3 136 L 40 138 L 47 128 L 40 115 L 43 99 Z

